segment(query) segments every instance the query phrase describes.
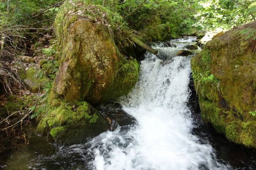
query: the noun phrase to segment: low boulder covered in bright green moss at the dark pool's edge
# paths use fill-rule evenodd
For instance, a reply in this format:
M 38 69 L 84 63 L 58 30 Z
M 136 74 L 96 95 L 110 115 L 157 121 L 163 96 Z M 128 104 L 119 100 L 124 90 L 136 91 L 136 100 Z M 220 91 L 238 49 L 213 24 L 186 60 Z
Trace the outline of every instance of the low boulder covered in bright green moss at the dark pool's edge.
M 108 130 L 107 120 L 87 102 L 61 102 L 59 107 L 44 109 L 36 132 L 50 142 L 79 143 Z

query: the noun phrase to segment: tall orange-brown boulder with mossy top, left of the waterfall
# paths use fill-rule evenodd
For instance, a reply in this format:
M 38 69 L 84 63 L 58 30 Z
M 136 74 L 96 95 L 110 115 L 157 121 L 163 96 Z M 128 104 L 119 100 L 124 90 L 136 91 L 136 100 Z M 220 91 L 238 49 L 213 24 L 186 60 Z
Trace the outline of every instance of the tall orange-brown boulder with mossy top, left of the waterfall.
M 95 15 L 106 19 L 95 21 Z M 128 94 L 135 86 L 139 64 L 121 54 L 111 33 L 117 28 L 112 28 L 108 15 L 106 9 L 83 1 L 75 5 L 66 1 L 61 7 L 54 24 L 60 67 L 53 86 L 60 97 L 100 104 Z

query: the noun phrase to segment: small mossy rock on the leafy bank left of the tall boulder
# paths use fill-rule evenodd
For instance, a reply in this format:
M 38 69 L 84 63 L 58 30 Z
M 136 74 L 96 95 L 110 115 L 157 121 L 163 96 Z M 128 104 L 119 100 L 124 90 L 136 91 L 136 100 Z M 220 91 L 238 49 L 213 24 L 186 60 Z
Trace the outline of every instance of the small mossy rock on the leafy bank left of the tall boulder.
M 50 80 L 46 78 L 44 71 L 41 69 L 30 67 L 26 71 L 26 76 L 23 82 L 31 92 L 38 92 L 39 90 L 42 90 Z

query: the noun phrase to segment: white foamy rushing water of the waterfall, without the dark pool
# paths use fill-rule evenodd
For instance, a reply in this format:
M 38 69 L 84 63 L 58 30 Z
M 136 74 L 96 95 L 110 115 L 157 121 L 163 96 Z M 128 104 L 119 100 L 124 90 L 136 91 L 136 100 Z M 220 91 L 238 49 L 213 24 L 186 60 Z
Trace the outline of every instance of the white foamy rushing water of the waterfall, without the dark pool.
M 93 138 L 87 164 L 97 170 L 227 169 L 212 146 L 191 133 L 190 57 L 175 56 L 180 45 L 159 47 L 160 56 L 146 54 L 136 87 L 120 99 L 138 124 Z

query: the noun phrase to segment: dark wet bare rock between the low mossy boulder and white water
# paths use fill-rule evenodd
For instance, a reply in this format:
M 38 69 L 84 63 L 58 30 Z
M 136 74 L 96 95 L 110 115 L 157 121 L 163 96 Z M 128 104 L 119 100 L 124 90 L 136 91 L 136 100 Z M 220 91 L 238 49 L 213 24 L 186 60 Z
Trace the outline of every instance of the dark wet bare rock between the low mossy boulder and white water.
M 119 126 L 126 126 L 137 122 L 133 116 L 122 110 L 120 103 L 102 104 L 98 110 L 106 119 L 109 119 L 110 130 L 116 129 L 117 123 Z

